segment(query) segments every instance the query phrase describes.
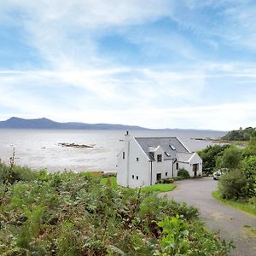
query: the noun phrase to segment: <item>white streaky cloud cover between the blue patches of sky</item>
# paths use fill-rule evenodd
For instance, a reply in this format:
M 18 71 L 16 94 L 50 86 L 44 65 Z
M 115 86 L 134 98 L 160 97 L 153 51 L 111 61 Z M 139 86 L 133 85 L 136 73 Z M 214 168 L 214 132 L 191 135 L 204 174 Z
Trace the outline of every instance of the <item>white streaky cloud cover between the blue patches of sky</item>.
M 253 10 L 243 8 L 240 14 L 237 5 L 226 11 L 227 32 L 223 31 L 223 26 L 219 28 L 213 26 L 211 20 L 204 20 L 205 15 L 201 19 L 196 16 L 199 9 L 210 4 L 218 5 L 215 1 L 185 1 L 182 4 L 167 0 L 2 2 L 0 23 L 8 21 L 22 28 L 26 32 L 26 44 L 36 49 L 45 63 L 43 69 L 26 70 L 22 63 L 16 65 L 16 70 L 0 71 L 0 107 L 15 109 L 13 113 L 24 117 L 46 116 L 60 121 L 155 128 L 227 130 L 253 125 L 256 109 L 253 103 L 224 105 L 218 102 L 209 107 L 202 96 L 209 79 L 231 77 L 254 81 L 254 63 L 202 61 L 199 51 L 178 31 L 166 36 L 163 33 L 161 38 L 143 29 L 139 34 L 125 29 L 169 17 L 177 21 L 179 29 L 209 38 L 215 49 L 218 46 L 211 41 L 212 35 L 239 44 L 251 41 L 252 48 L 256 45 L 253 38 L 255 22 L 250 26 L 254 21 Z M 14 13 L 17 15 L 8 15 Z M 230 32 L 233 21 L 237 26 L 235 33 Z M 208 29 L 209 26 L 212 29 Z M 140 45 L 144 53 L 151 45 L 151 49 L 158 47 L 163 53 L 171 50 L 187 59 L 188 64 L 180 69 L 173 68 L 176 63 L 163 67 L 149 64 L 131 67 L 106 60 L 97 52 L 96 39 L 108 29 Z M 221 85 L 229 84 L 218 84 L 217 88 Z M 73 95 L 65 95 L 67 89 L 73 90 Z M 40 91 L 46 92 L 43 95 Z

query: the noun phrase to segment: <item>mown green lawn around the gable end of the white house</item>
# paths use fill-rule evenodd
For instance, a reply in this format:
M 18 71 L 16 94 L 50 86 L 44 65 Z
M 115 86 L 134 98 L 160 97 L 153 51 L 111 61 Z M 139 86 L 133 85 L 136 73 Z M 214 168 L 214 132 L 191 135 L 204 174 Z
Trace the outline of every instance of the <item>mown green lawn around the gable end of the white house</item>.
M 118 184 L 116 183 L 116 177 L 102 177 L 101 183 L 106 184 L 108 182 L 108 178 L 114 188 L 118 187 Z M 143 187 L 142 191 L 160 193 L 160 192 L 172 191 L 175 188 L 176 188 L 176 185 L 172 183 L 171 184 L 154 184 L 152 186 Z

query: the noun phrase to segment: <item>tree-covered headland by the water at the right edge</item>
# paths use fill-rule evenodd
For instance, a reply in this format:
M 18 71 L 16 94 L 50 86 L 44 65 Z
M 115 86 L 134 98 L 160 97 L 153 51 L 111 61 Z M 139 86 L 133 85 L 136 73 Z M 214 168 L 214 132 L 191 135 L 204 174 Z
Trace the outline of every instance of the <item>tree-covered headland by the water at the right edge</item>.
M 248 141 L 250 137 L 256 137 L 256 128 L 247 127 L 245 129 L 229 131 L 222 139 L 228 141 Z

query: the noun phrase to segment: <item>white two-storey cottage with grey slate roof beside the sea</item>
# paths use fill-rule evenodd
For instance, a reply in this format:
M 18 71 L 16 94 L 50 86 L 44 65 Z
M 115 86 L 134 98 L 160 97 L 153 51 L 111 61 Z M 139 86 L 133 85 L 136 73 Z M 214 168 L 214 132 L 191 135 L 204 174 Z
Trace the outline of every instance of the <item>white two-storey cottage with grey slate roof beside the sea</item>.
M 131 137 L 126 131 L 125 148 L 117 157 L 117 183 L 124 187 L 149 186 L 165 177 L 177 177 L 181 168 L 190 177 L 202 172 L 200 156 L 177 137 Z

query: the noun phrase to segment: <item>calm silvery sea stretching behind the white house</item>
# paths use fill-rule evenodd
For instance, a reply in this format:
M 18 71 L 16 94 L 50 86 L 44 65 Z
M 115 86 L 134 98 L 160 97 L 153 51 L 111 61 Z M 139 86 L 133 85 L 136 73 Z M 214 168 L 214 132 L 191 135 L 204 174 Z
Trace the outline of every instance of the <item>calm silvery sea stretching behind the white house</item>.
M 125 131 L 5 130 L 0 129 L 0 159 L 9 163 L 15 148 L 15 164 L 49 172 L 73 170 L 116 172 L 116 155 L 122 149 Z M 224 131 L 130 131 L 135 137 L 179 137 L 191 150 L 212 143 L 193 137 L 217 138 Z M 93 148 L 65 148 L 59 143 L 94 145 Z

